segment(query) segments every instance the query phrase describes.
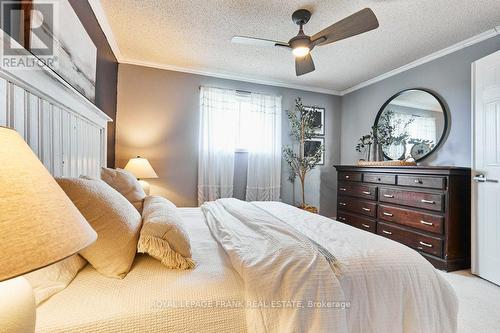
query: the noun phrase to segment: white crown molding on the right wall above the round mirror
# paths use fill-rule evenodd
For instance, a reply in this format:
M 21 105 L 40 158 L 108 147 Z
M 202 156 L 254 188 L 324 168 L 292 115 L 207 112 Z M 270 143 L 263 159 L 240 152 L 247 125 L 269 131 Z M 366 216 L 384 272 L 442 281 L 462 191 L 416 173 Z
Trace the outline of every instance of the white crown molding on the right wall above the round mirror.
M 380 82 L 380 81 L 385 80 L 385 79 L 387 79 L 387 78 L 389 78 L 391 76 L 397 75 L 397 74 L 405 72 L 405 71 L 407 71 L 409 69 L 415 68 L 417 66 L 420 66 L 420 65 L 423 65 L 425 63 L 431 62 L 431 61 L 436 60 L 438 58 L 444 57 L 445 55 L 448 55 L 448 54 L 451 54 L 453 52 L 459 51 L 459 50 L 464 49 L 464 48 L 466 48 L 468 46 L 477 44 L 477 43 L 482 42 L 482 41 L 484 41 L 486 39 L 495 37 L 498 34 L 500 34 L 500 26 L 495 27 L 494 29 L 485 31 L 483 33 L 480 33 L 480 34 L 478 34 L 476 36 L 473 36 L 473 37 L 468 38 L 466 40 L 463 40 L 461 42 L 458 42 L 458 43 L 456 43 L 454 45 L 446 47 L 446 48 L 444 48 L 442 50 L 439 50 L 437 52 L 431 53 L 431 54 L 429 54 L 429 55 L 427 55 L 425 57 L 422 57 L 420 59 L 412 61 L 412 62 L 410 62 L 410 63 L 408 63 L 406 65 L 403 65 L 401 67 L 393 69 L 393 70 L 391 70 L 391 71 L 389 71 L 387 73 L 384 73 L 382 75 L 376 76 L 376 77 L 374 77 L 372 79 L 369 79 L 369 80 L 366 80 L 364 82 L 358 83 L 355 86 L 352 86 L 351 88 L 347 88 L 345 90 L 342 90 L 340 92 L 340 95 L 344 96 L 344 95 L 350 94 L 350 93 L 352 93 L 352 92 L 354 92 L 356 90 L 359 90 L 361 88 L 367 87 L 367 86 L 372 85 L 374 83 Z

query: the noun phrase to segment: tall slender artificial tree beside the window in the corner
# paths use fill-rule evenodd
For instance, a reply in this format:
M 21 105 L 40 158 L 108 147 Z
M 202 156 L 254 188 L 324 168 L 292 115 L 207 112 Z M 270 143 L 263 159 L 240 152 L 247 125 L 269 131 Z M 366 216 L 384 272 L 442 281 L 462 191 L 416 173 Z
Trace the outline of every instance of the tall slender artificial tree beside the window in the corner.
M 306 175 L 321 161 L 325 150 L 324 145 L 320 145 L 316 152 L 307 155 L 304 153 L 305 141 L 313 138 L 316 135 L 315 130 L 318 129 L 314 125 L 315 110 L 316 107 L 304 108 L 302 100 L 298 97 L 295 99 L 294 110 L 287 111 L 288 121 L 290 122 L 290 136 L 295 142 L 291 146 L 285 145 L 283 147 L 283 155 L 290 168 L 288 179 L 292 183 L 297 177 L 300 179 L 302 190 L 302 203 L 300 206 L 302 208 L 308 207 L 305 202 L 304 192 Z

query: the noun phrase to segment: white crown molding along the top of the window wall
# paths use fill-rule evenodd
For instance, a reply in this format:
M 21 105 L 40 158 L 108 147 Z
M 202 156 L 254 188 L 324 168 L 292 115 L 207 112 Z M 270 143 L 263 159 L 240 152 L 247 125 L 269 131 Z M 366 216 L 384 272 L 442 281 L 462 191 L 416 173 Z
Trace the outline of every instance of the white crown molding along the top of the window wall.
M 268 86 L 274 86 L 274 87 L 297 89 L 297 90 L 310 91 L 310 92 L 316 92 L 316 93 L 327 94 L 327 95 L 340 96 L 340 91 L 337 91 L 337 90 L 317 88 L 317 87 L 311 87 L 311 86 L 306 86 L 306 85 L 290 84 L 290 83 L 280 82 L 280 81 L 261 80 L 261 79 L 257 79 L 254 77 L 238 75 L 238 74 L 217 73 L 217 72 L 212 72 L 212 71 L 207 71 L 207 70 L 198 70 L 198 69 L 192 69 L 192 68 L 186 68 L 186 67 L 177 67 L 177 66 L 159 64 L 159 63 L 155 63 L 155 62 L 132 60 L 132 59 L 122 59 L 122 61 L 120 61 L 120 64 L 158 68 L 158 69 L 164 69 L 164 70 L 175 71 L 175 72 L 216 77 L 219 79 L 236 80 L 236 81 L 256 83 L 256 84 L 262 84 L 262 85 L 268 85 Z

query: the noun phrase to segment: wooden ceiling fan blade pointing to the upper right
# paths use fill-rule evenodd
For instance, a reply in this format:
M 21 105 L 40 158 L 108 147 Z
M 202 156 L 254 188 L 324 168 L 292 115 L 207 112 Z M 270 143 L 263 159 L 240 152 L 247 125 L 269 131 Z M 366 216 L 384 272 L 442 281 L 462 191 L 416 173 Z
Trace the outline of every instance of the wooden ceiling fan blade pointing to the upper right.
M 377 17 L 370 8 L 365 8 L 314 34 L 311 40 L 315 45 L 326 45 L 376 28 Z

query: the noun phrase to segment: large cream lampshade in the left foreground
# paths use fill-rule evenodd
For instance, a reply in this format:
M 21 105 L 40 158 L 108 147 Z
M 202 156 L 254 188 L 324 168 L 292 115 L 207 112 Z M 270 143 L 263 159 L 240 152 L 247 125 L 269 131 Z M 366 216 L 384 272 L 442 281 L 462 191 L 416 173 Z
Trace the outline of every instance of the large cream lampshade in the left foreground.
M 96 239 L 21 136 L 0 127 L 0 281 L 69 257 Z

